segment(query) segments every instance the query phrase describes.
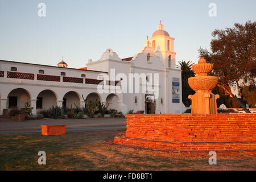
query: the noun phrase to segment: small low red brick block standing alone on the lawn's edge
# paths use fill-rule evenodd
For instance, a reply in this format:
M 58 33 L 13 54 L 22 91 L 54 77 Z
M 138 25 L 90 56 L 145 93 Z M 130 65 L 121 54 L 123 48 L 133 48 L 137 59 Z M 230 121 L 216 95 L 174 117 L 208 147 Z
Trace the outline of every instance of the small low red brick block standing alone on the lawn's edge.
M 67 125 L 41 125 L 42 135 L 65 135 Z

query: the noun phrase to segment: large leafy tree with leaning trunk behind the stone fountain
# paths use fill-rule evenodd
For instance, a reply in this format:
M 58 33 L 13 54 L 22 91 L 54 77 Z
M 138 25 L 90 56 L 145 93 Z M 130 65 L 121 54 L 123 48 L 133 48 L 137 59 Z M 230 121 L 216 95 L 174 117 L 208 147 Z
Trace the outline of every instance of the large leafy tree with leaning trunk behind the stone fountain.
M 214 30 L 210 42 L 210 51 L 199 49 L 199 57 L 205 57 L 213 63 L 213 75 L 218 77 L 218 86 L 246 109 L 242 92 L 243 86 L 255 85 L 256 74 L 256 22 L 248 20 L 244 25 L 234 23 L 233 28 Z M 238 90 L 238 97 L 230 87 Z M 255 92 L 254 92 L 255 94 Z

